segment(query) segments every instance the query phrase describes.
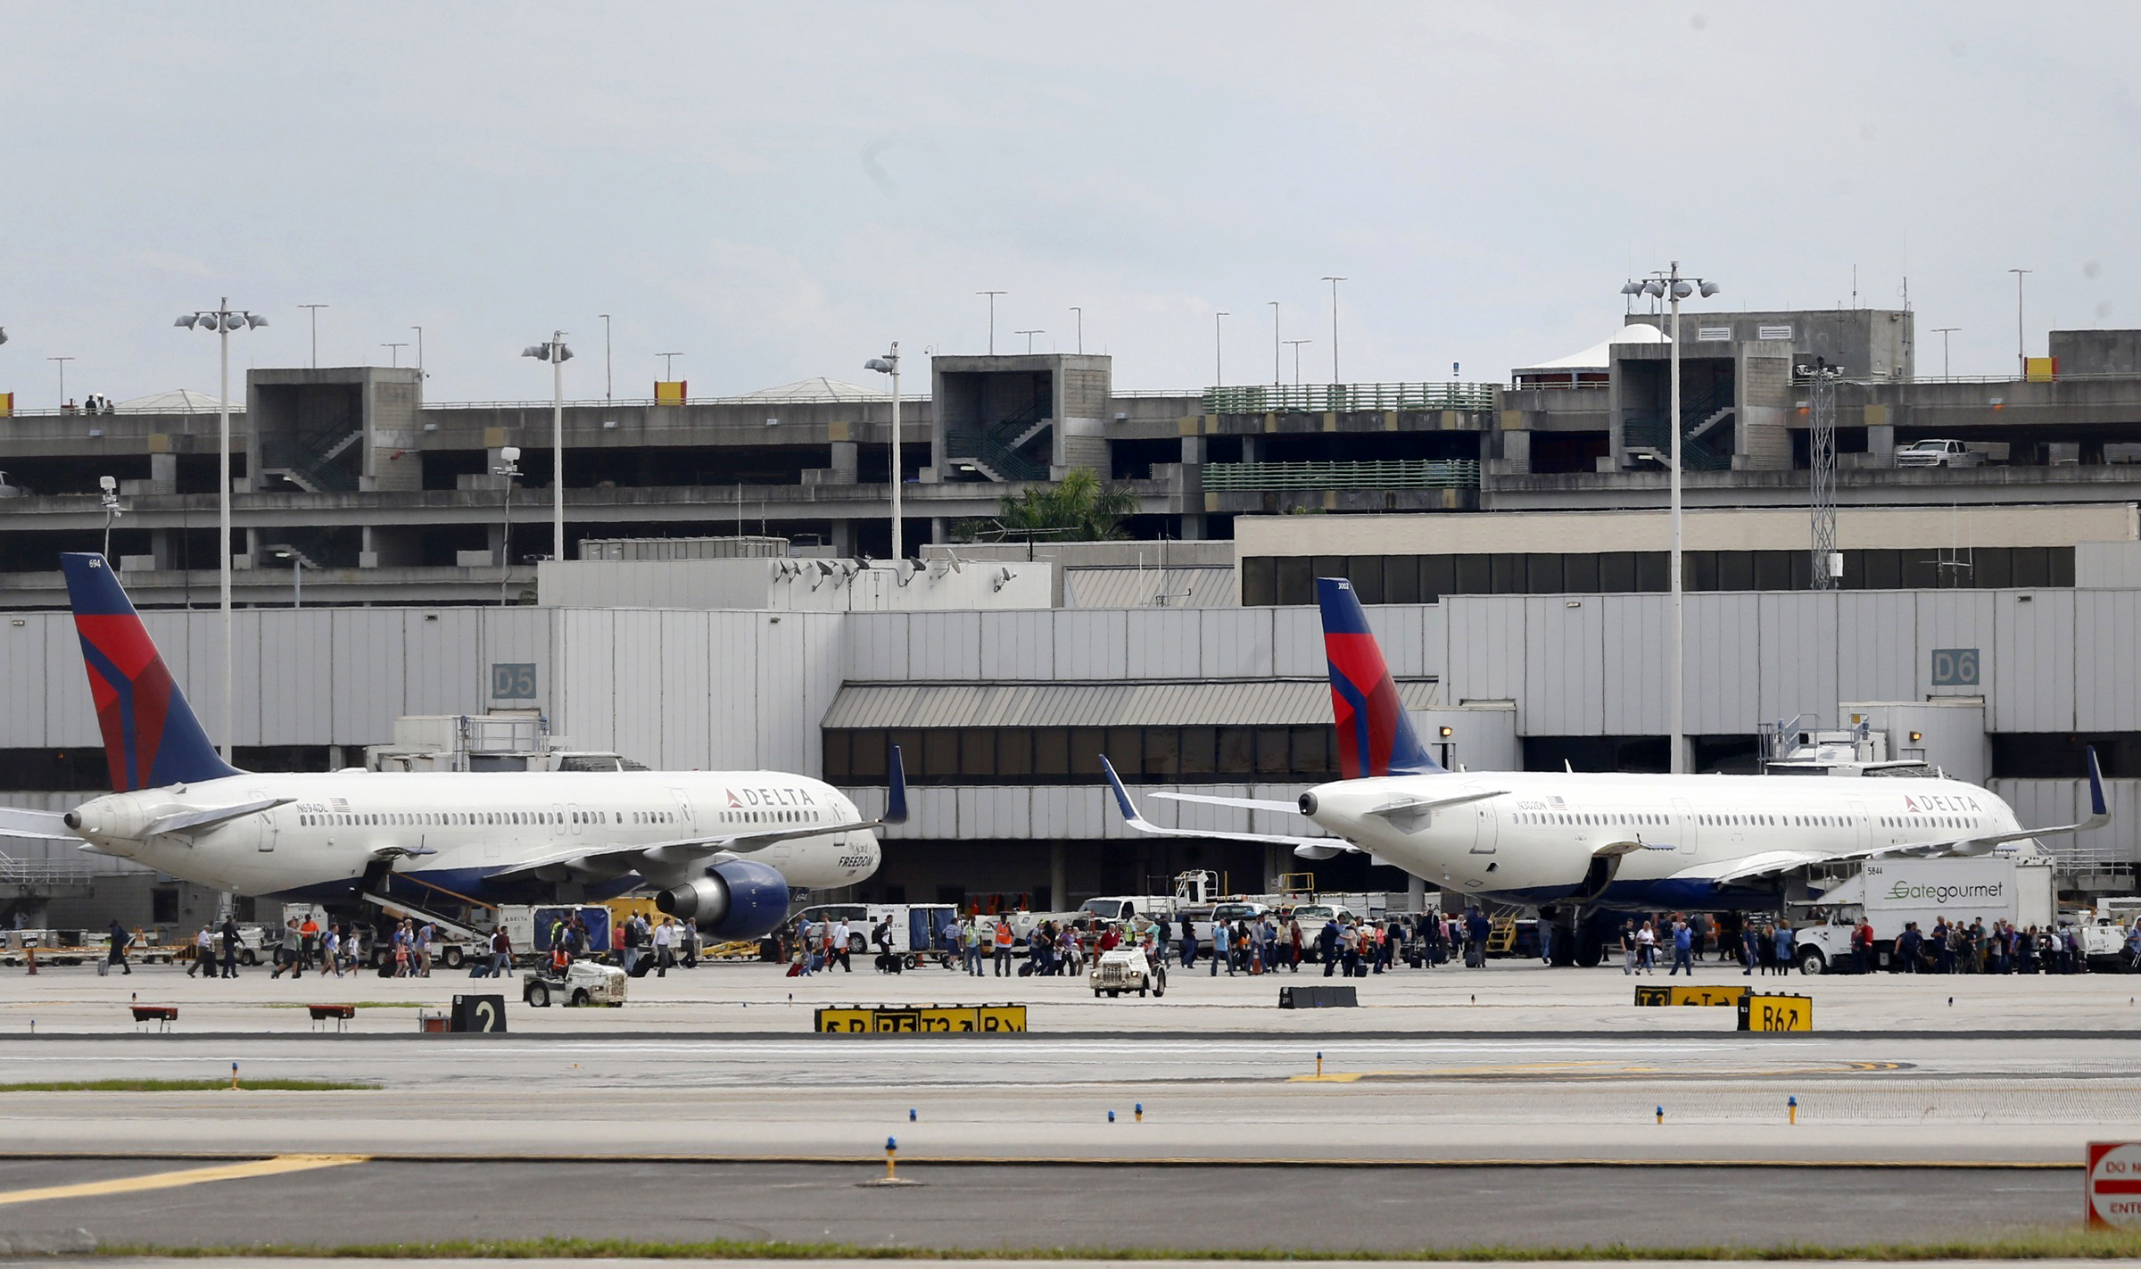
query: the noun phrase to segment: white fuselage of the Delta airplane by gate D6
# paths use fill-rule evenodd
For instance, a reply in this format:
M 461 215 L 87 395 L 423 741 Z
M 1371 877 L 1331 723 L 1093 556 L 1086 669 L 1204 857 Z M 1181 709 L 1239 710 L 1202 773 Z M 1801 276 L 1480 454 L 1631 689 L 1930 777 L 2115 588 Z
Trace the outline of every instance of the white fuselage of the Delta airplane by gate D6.
M 1411 821 L 1372 815 L 1467 793 L 1499 795 Z M 1976 785 L 1912 776 L 1441 772 L 1338 780 L 1310 797 L 1323 830 L 1456 894 L 1646 911 L 1773 905 L 1766 883 L 1674 879 L 1764 851 L 1848 853 L 2021 827 Z M 1599 857 L 1627 842 L 1642 847 Z

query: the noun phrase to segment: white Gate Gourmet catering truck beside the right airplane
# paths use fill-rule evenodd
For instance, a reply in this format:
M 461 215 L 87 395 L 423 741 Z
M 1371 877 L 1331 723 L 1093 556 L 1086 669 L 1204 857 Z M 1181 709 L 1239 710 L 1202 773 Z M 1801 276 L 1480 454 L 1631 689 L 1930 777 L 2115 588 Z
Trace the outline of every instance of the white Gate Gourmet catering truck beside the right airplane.
M 1929 932 L 1940 917 L 1950 926 L 1993 922 L 2028 930 L 2055 920 L 2051 860 L 1976 855 L 1968 860 L 1871 860 L 1856 877 L 1826 890 L 1818 907 L 1826 922 L 1796 932 L 1794 958 L 1801 973 L 1848 971 L 1852 930 L 1873 926 L 1873 965 L 1888 967 L 1897 935 L 1918 922 Z

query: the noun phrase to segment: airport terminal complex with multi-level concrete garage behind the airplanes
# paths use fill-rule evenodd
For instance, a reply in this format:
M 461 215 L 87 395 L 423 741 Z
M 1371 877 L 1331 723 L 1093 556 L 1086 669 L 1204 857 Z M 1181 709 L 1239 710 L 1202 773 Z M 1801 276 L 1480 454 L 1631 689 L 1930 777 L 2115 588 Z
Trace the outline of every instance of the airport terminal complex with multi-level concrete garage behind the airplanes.
M 2068 823 L 2094 744 L 2113 823 L 2047 847 L 2066 887 L 2128 892 L 2141 332 L 2053 332 L 2055 362 L 2000 382 L 1918 377 L 1908 313 L 1700 315 L 1681 337 L 1691 770 L 1856 720 L 1895 757 L 1989 785 L 2025 825 Z M 1128 394 L 1098 356 L 940 356 L 931 397 L 901 412 L 908 542 L 927 542 L 906 566 L 882 562 L 891 405 L 844 384 L 567 403 L 561 562 L 548 403 L 426 405 L 413 371 L 379 367 L 253 371 L 236 416 L 238 765 L 360 765 L 403 718 L 503 714 L 657 770 L 824 776 L 867 810 L 899 744 L 914 815 L 865 896 L 1062 905 L 1182 868 L 1261 890 L 1310 866 L 1126 832 L 1098 755 L 1145 791 L 1287 800 L 1327 778 L 1315 577 L 1353 579 L 1447 765 L 1668 765 L 1664 358 L 1655 317 L 1492 386 Z M 1828 589 L 1803 367 L 1846 371 Z M 1968 457 L 1897 465 L 1929 437 Z M 518 480 L 495 474 L 507 446 Z M 126 508 L 111 555 L 218 727 L 214 463 L 197 399 L 0 418 L 0 469 L 24 491 L 0 499 L 0 800 L 103 789 L 54 568 L 103 542 L 98 476 Z M 1128 540 L 987 540 L 1006 493 L 1077 467 L 1135 495 Z M 458 733 L 482 748 L 477 731 Z M 96 924 L 214 911 L 122 862 L 83 879 L 66 855 L 17 855 L 0 902 Z M 1360 860 L 1312 868 L 1402 887 Z

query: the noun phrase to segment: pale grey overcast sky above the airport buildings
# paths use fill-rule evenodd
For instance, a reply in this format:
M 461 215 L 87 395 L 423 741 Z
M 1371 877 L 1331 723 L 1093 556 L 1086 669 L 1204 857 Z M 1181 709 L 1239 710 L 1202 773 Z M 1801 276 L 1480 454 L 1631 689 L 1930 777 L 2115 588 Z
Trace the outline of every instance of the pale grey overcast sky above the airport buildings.
M 390 360 L 430 401 L 694 394 L 863 358 L 1118 388 L 1503 379 L 1679 257 L 1732 309 L 1901 304 L 1918 369 L 2141 326 L 2141 4 L 6 4 L 0 388 Z M 415 349 L 398 354 L 409 364 Z M 914 371 L 925 367 L 916 360 Z M 1280 371 L 1293 377 L 1291 352 Z M 916 384 L 918 388 L 921 384 Z

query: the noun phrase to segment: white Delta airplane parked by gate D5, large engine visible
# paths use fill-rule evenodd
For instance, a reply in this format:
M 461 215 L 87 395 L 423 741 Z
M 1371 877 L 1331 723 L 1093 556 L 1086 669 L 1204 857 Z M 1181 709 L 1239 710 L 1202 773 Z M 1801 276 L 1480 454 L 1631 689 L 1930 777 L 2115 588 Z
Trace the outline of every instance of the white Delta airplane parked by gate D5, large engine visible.
M 897 748 L 882 819 L 784 772 L 240 772 L 216 757 L 105 557 L 60 566 L 113 793 L 66 815 L 0 810 L 0 836 L 79 838 L 186 881 L 319 902 L 550 902 L 651 885 L 662 911 L 747 939 L 788 915 L 790 887 L 876 872 L 871 830 L 906 819 Z

